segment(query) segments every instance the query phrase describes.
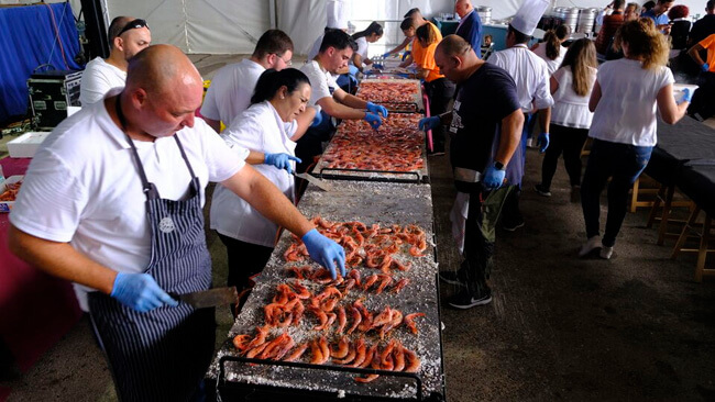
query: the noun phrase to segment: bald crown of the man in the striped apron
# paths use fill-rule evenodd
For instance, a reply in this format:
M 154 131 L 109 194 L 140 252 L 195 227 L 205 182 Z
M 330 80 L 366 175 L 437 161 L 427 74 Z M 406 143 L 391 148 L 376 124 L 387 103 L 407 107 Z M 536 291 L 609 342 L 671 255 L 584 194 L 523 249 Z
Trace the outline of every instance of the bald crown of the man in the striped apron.
M 143 88 L 151 94 L 165 94 L 200 83 L 201 76 L 191 60 L 170 45 L 154 45 L 129 60 L 127 88 Z

